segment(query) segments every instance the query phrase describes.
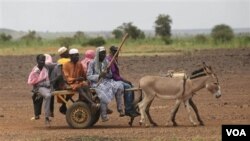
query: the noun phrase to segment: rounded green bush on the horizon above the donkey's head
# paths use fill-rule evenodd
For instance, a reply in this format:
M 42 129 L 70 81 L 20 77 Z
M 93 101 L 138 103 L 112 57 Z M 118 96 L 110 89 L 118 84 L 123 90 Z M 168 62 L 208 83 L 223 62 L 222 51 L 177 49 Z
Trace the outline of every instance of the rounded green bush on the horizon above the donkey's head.
M 234 38 L 234 33 L 230 26 L 220 24 L 213 27 L 211 36 L 216 43 L 228 42 Z

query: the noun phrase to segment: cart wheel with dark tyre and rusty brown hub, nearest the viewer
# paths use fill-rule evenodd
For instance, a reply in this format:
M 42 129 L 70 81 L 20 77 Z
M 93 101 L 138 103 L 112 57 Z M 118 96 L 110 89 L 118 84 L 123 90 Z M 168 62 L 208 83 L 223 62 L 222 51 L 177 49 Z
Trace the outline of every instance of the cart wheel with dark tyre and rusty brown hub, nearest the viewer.
M 92 114 L 88 104 L 75 102 L 66 112 L 66 121 L 72 128 L 87 128 L 91 125 Z

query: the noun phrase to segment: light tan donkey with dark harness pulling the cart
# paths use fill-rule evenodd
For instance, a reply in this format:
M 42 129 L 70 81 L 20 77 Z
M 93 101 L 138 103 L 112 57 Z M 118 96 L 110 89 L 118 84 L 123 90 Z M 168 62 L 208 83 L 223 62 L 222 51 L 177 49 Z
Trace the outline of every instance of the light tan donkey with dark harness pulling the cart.
M 214 94 L 216 98 L 221 96 L 218 78 L 212 68 L 205 63 L 203 63 L 202 69 L 193 72 L 191 77 L 187 79 L 180 77 L 144 76 L 140 79 L 139 86 L 144 97 L 137 106 L 141 114 L 140 125 L 145 124 L 145 126 L 157 126 L 149 114 L 149 108 L 155 97 L 166 100 L 176 100 L 166 125 L 177 126 L 175 116 L 181 102 L 184 102 L 189 120 L 194 126 L 197 126 L 204 125 L 204 123 L 199 116 L 196 105 L 192 101 L 193 95 L 195 95 L 197 91 L 206 88 Z M 193 120 L 190 107 L 193 108 L 199 124 Z M 150 124 L 148 124 L 148 121 Z

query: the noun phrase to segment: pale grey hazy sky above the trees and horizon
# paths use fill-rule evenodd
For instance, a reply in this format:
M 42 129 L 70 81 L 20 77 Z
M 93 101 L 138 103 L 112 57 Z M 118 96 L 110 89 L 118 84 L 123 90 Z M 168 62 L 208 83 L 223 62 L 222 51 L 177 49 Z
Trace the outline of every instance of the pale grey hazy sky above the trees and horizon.
M 22 31 L 153 30 L 159 14 L 172 29 L 250 28 L 250 0 L 0 0 L 0 28 Z

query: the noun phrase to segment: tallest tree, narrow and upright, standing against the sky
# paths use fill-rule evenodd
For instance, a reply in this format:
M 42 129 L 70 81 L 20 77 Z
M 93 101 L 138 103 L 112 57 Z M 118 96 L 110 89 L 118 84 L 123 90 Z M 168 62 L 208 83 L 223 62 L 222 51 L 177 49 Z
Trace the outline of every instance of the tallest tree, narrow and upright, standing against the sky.
M 155 35 L 160 36 L 165 44 L 172 43 L 171 38 L 172 19 L 169 15 L 160 14 L 155 21 Z

